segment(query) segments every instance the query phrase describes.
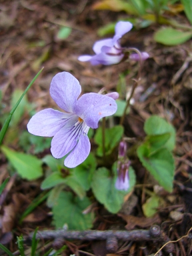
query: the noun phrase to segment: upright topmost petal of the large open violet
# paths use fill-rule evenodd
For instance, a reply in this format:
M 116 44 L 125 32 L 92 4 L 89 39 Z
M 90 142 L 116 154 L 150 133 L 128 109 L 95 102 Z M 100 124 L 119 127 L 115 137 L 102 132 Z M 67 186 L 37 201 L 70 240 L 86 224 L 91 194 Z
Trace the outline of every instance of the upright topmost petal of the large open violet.
M 55 75 L 51 81 L 50 94 L 61 109 L 73 113 L 73 105 L 81 93 L 79 81 L 68 72 Z

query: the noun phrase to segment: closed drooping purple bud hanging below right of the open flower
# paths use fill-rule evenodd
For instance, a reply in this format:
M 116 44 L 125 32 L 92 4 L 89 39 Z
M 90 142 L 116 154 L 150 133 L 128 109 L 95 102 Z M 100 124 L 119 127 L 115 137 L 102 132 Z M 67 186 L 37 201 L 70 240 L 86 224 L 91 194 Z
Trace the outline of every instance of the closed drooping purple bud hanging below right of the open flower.
M 127 158 L 127 143 L 121 141 L 119 143 L 119 155 L 117 161 L 117 180 L 115 182 L 115 187 L 118 190 L 129 189 L 129 166 L 130 161 Z

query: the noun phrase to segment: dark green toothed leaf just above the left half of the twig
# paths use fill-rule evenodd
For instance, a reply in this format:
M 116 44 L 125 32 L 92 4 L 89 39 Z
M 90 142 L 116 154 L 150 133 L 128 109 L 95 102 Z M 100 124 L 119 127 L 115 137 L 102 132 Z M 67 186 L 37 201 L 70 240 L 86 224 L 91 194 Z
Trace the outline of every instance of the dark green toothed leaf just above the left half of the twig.
M 83 211 L 91 205 L 87 197 L 80 200 L 70 192 L 62 191 L 53 206 L 53 219 L 57 229 L 67 224 L 69 229 L 85 230 L 91 229 L 93 223 L 93 214 L 83 214 Z

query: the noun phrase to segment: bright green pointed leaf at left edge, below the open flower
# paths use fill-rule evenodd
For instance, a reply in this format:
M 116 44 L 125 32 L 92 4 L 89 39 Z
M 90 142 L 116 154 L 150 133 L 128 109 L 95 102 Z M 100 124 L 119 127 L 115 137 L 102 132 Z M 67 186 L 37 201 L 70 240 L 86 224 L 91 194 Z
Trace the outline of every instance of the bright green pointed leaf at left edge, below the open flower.
M 43 175 L 42 162 L 37 157 L 15 152 L 5 146 L 1 147 L 1 151 L 3 151 L 11 165 L 13 165 L 23 179 L 33 180 Z

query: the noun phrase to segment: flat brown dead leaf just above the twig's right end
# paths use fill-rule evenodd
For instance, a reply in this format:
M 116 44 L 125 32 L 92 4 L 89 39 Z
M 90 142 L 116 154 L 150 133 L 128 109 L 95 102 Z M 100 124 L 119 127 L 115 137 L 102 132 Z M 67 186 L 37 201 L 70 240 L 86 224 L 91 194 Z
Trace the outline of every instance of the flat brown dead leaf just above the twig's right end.
M 135 217 L 133 215 L 124 215 L 119 213 L 118 216 L 123 218 L 127 222 L 127 225 L 125 226 L 127 230 L 132 230 L 136 226 L 141 228 L 150 227 L 153 224 L 158 224 L 161 222 L 159 215 L 155 215 L 154 217 L 151 217 L 151 218 L 146 218 L 146 217 Z

